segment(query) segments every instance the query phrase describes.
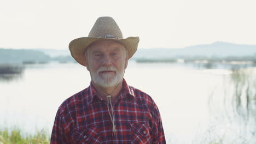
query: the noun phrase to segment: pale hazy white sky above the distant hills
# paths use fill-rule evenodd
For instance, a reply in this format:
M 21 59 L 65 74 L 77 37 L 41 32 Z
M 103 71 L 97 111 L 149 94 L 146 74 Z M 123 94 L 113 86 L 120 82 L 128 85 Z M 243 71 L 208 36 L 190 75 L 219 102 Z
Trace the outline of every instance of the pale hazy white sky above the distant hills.
M 0 48 L 68 49 L 100 16 L 112 16 L 125 38 L 139 36 L 139 49 L 256 45 L 255 0 L 0 0 Z

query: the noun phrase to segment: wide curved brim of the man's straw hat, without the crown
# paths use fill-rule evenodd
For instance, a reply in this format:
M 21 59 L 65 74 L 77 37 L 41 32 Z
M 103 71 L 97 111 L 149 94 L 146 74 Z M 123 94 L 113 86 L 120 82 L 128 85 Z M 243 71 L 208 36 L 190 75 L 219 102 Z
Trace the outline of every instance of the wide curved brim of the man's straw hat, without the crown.
M 137 51 L 138 43 L 139 43 L 139 37 L 128 37 L 126 39 L 113 39 L 113 38 L 91 38 L 91 37 L 83 37 L 74 39 L 69 43 L 69 50 L 71 53 L 71 56 L 77 61 L 79 64 L 82 64 L 86 67 L 85 63 L 85 50 L 87 47 L 98 40 L 114 40 L 121 44 L 123 44 L 128 52 L 127 58 L 130 59 L 134 53 Z

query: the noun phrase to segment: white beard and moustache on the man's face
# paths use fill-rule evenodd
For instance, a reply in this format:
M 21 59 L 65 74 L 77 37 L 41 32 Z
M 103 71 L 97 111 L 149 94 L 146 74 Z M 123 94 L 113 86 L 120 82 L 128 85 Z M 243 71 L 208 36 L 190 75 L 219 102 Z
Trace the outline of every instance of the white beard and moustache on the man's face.
M 115 71 L 115 75 L 113 74 L 101 74 L 99 75 L 100 71 L 102 70 L 113 70 Z M 118 71 L 114 67 L 100 67 L 97 69 L 96 74 L 91 73 L 91 79 L 96 83 L 96 85 L 101 87 L 114 87 L 118 85 L 118 83 L 123 80 L 124 69 Z

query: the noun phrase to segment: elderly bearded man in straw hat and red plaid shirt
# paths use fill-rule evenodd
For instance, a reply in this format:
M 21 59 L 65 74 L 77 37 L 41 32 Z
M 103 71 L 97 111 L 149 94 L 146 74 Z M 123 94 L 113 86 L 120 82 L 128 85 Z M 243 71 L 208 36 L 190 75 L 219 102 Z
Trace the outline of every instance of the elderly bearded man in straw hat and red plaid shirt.
M 91 83 L 61 104 L 51 143 L 166 143 L 153 99 L 123 79 L 138 42 L 123 39 L 112 17 L 98 18 L 89 37 L 71 41 L 71 55 L 90 71 Z

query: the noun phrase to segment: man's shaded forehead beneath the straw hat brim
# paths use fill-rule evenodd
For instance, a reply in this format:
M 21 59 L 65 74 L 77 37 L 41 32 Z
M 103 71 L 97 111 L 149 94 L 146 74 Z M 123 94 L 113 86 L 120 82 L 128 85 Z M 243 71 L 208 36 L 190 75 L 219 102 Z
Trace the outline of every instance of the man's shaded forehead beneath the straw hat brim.
M 107 51 L 124 51 L 127 52 L 125 46 L 118 41 L 114 40 L 100 40 L 90 44 L 85 53 L 91 53 L 94 51 L 107 52 Z

